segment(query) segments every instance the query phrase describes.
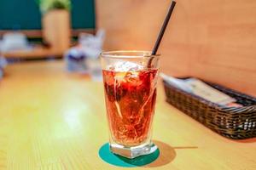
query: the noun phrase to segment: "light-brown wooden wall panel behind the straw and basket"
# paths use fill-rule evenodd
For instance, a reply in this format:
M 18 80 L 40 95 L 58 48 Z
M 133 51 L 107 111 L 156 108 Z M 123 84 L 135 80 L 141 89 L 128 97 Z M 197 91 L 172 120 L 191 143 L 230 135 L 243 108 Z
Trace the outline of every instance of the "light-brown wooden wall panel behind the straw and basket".
M 169 0 L 96 0 L 106 50 L 151 50 Z M 256 96 L 256 1 L 177 0 L 160 46 L 162 71 Z

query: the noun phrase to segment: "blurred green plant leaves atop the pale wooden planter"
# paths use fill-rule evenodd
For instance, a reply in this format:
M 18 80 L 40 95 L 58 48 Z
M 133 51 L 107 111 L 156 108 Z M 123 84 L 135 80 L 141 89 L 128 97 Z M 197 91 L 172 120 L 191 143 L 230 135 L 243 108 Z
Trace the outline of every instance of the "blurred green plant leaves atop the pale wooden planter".
M 44 14 L 52 9 L 70 10 L 70 0 L 38 0 L 41 12 Z

